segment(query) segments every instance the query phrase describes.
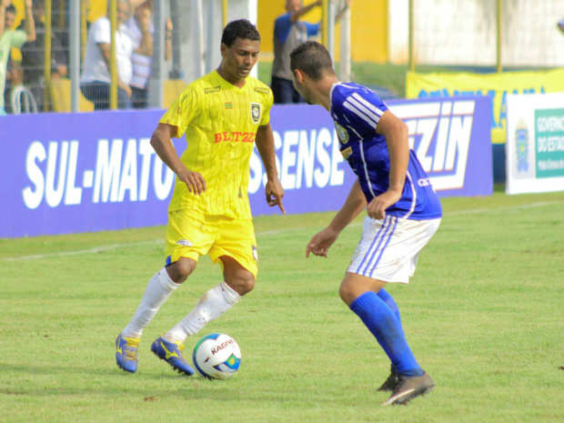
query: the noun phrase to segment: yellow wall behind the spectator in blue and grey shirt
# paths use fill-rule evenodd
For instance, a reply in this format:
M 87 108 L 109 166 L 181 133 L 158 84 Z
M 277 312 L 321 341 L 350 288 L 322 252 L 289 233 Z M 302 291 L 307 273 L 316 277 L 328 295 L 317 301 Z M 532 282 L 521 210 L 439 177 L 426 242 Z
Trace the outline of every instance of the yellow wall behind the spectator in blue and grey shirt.
M 304 1 L 310 5 L 312 1 Z M 286 0 L 258 0 L 257 27 L 261 35 L 260 51 L 263 58 L 273 53 L 274 21 L 286 13 Z M 353 0 L 351 7 L 351 55 L 353 62 L 386 63 L 388 61 L 388 0 Z M 317 23 L 321 8 L 316 7 L 302 17 Z M 340 25 L 336 26 L 335 57 L 339 59 Z M 270 56 L 271 57 L 271 56 Z

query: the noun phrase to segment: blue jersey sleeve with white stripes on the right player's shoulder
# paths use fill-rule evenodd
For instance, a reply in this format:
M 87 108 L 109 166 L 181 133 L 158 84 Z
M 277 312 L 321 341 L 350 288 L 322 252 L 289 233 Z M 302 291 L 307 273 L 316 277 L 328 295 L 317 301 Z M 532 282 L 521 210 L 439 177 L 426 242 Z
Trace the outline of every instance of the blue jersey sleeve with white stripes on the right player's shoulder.
M 337 97 L 335 111 L 360 133 L 373 134 L 380 116 L 388 110 L 386 103 L 368 90 L 347 90 Z

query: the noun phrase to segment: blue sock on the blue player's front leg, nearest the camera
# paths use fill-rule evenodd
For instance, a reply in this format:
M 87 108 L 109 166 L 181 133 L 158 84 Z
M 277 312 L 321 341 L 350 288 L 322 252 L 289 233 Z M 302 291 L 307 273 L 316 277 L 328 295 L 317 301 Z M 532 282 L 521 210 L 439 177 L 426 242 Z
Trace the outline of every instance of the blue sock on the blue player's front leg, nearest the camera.
M 399 375 L 423 375 L 423 369 L 419 367 L 408 346 L 398 318 L 376 292 L 365 292 L 352 302 L 350 309 L 376 337 Z

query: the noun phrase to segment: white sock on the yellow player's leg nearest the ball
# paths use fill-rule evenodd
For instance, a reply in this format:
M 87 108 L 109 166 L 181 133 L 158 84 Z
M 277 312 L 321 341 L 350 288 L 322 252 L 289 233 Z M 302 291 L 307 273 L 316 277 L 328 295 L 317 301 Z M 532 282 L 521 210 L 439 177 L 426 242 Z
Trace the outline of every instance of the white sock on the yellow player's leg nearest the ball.
M 220 317 L 241 299 L 225 282 L 212 287 L 178 324 L 165 334 L 169 342 L 184 342 L 186 337 L 198 333 L 208 322 Z

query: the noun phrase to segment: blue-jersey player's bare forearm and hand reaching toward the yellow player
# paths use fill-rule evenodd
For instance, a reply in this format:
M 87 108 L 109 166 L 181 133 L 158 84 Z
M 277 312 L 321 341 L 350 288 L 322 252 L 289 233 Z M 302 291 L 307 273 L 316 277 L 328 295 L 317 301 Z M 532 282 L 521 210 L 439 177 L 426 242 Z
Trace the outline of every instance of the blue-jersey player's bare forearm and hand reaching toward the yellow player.
M 337 237 L 341 231 L 347 227 L 355 217 L 358 217 L 366 206 L 367 199 L 357 179 L 350 188 L 347 201 L 345 201 L 345 204 L 337 212 L 337 215 L 333 217 L 329 226 L 314 235 L 307 243 L 306 257 L 309 257 L 309 253 L 314 256 L 327 257 L 329 248 L 337 241 Z

